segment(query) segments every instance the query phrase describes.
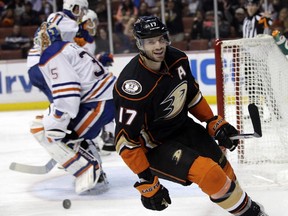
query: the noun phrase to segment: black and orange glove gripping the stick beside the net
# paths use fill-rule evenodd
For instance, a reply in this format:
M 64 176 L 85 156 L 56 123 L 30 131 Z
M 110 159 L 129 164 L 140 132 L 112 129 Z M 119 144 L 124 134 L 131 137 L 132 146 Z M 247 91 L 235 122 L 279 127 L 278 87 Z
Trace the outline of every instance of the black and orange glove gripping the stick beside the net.
M 233 151 L 239 143 L 239 140 L 231 140 L 229 138 L 233 135 L 237 135 L 238 131 L 221 116 L 214 116 L 212 119 L 208 120 L 207 130 L 212 137 L 215 137 L 215 139 L 218 140 L 220 146 L 224 146 L 230 151 Z

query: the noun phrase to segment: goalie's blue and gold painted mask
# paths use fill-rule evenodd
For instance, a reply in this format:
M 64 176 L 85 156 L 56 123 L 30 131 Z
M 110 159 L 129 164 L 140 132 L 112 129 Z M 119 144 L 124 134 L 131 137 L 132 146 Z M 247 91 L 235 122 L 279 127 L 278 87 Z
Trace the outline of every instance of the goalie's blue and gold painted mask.
M 54 41 L 62 40 L 57 25 L 43 22 L 34 35 L 34 44 L 41 49 L 41 53 Z

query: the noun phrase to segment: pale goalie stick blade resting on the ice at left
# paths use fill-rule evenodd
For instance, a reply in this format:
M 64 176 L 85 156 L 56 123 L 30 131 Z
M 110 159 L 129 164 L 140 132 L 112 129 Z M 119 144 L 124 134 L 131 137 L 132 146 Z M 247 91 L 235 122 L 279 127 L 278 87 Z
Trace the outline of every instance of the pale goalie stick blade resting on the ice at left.
M 13 171 L 29 173 L 29 174 L 46 174 L 50 172 L 56 164 L 57 162 L 54 159 L 50 159 L 43 166 L 33 166 L 33 165 L 26 165 L 26 164 L 12 162 L 10 164 L 9 169 Z

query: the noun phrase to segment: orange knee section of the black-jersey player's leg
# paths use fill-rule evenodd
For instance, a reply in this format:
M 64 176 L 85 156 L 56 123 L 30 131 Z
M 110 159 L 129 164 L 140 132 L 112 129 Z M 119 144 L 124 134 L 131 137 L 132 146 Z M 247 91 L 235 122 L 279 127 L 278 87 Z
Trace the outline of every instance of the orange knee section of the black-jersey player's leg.
M 189 170 L 188 180 L 198 184 L 204 193 L 211 196 L 224 187 L 227 176 L 212 159 L 199 156 Z

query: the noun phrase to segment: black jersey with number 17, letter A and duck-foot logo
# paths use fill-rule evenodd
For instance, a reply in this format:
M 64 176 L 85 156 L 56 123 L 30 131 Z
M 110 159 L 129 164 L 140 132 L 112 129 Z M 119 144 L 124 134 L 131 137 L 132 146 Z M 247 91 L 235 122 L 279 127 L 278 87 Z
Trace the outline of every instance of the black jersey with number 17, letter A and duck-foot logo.
M 137 55 L 120 73 L 113 91 L 116 149 L 127 164 L 133 162 L 127 161 L 131 157 L 124 150 L 137 155 L 132 158 L 141 162 L 130 166 L 135 173 L 147 168 L 141 143 L 153 148 L 169 139 L 202 98 L 185 53 L 168 46 L 162 66 L 161 72 L 152 71 Z

